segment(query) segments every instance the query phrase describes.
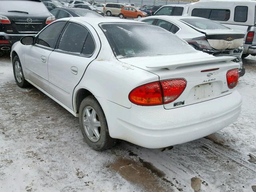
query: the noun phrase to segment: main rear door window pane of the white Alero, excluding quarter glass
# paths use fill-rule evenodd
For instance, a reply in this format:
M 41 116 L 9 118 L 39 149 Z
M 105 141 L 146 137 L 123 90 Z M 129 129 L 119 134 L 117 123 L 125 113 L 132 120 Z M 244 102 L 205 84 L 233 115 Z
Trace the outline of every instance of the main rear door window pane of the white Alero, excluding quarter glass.
M 88 30 L 84 26 L 76 23 L 68 24 L 60 40 L 58 50 L 80 54 L 87 35 Z

